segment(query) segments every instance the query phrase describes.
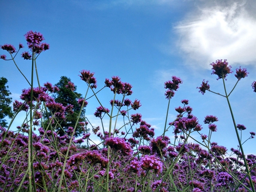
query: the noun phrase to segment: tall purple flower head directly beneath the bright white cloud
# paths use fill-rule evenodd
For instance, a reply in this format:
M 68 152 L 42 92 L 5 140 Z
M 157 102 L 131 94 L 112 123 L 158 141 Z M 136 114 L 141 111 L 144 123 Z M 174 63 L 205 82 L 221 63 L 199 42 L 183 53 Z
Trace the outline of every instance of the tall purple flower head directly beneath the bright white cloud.
M 216 74 L 218 75 L 218 79 L 222 79 L 222 78 L 226 78 L 227 74 L 232 73 L 231 66 L 228 66 L 228 62 L 227 59 L 224 59 L 224 61 L 222 61 L 222 59 L 218 59 L 216 60 L 216 62 L 212 62 L 210 64 L 212 66 L 212 73 L 211 74 Z

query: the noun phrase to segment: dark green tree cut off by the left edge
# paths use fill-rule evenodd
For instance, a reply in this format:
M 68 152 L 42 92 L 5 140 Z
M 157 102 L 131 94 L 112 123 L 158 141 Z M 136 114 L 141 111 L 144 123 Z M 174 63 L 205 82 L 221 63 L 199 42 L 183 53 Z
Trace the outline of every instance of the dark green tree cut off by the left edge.
M 0 78 L 0 125 L 2 127 L 7 127 L 7 122 L 4 119 L 6 116 L 12 118 L 13 112 L 10 106 L 12 98 L 9 97 L 11 92 L 8 90 L 6 83 L 8 80 L 5 77 Z

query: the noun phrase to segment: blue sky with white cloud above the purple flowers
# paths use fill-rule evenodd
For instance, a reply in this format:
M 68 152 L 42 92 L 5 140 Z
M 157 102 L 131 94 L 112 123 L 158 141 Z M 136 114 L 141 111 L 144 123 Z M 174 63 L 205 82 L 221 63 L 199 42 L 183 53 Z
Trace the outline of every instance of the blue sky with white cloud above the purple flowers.
M 193 114 L 203 130 L 206 115 L 215 115 L 218 131 L 211 141 L 230 150 L 238 142 L 227 101 L 224 97 L 206 92 L 200 94 L 202 80 L 208 80 L 210 89 L 223 93 L 221 80 L 211 75 L 210 63 L 227 59 L 232 71 L 240 66 L 249 72 L 230 95 L 237 124 L 244 124 L 243 141 L 256 132 L 256 93 L 251 83 L 256 80 L 256 3 L 244 1 L 199 0 L 110 0 L 110 1 L 0 1 L 0 45 L 19 43 L 26 46 L 24 35 L 32 30 L 44 35 L 50 49 L 37 59 L 40 83 L 55 84 L 61 76 L 71 78 L 77 92 L 85 94 L 86 83 L 79 71 L 95 73 L 98 88 L 105 78 L 119 76 L 133 86 L 131 100 L 139 99 L 141 108 L 134 113 L 155 127 L 156 136 L 163 133 L 168 100 L 164 96 L 164 82 L 178 76 L 183 80 L 170 101 L 168 122 L 177 115 L 175 108 L 182 99 L 189 100 Z M 30 79 L 31 63 L 15 58 L 20 70 Z M 0 54 L 10 56 L 4 50 Z M 12 61 L 0 60 L 0 77 L 8 79 L 13 100 L 19 99 L 29 85 Z M 225 81 L 231 90 L 237 79 L 228 74 Z M 103 105 L 110 108 L 113 99 L 110 90 L 99 94 Z M 87 117 L 98 126 L 93 113 L 99 104 L 89 100 Z M 18 117 L 13 126 L 23 120 Z M 173 138 L 173 130 L 167 136 Z M 200 140 L 199 135 L 194 136 Z M 97 139 L 97 138 L 95 138 Z M 172 139 L 171 139 L 172 140 Z M 256 140 L 244 144 L 246 154 L 256 154 Z

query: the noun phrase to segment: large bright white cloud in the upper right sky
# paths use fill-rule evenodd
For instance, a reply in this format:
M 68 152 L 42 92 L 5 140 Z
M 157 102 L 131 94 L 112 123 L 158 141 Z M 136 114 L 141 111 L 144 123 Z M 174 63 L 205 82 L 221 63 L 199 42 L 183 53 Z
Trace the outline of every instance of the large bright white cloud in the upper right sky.
M 199 68 L 210 68 L 209 63 L 217 59 L 227 59 L 230 65 L 255 65 L 256 18 L 243 5 L 203 8 L 176 30 L 178 47 Z

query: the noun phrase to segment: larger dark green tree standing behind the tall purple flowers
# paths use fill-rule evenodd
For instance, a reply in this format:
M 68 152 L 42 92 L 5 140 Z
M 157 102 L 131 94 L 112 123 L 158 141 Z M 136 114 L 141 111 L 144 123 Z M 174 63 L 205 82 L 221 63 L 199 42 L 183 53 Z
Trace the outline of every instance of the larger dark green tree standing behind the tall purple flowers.
M 81 106 L 78 104 L 78 98 L 80 98 L 82 95 L 80 93 L 76 92 L 76 86 L 70 88 L 71 79 L 66 76 L 61 76 L 58 83 L 56 83 L 54 86 L 57 86 L 59 88 L 59 91 L 54 94 L 55 102 L 61 103 L 64 106 L 67 106 L 69 104 L 73 105 L 73 112 L 74 113 L 66 113 L 66 119 L 65 121 L 58 122 L 59 125 L 56 123 L 56 131 L 59 133 L 59 135 L 64 135 L 65 133 L 63 131 L 68 131 L 69 127 L 75 127 L 75 124 L 77 122 L 77 119 L 79 118 L 79 122 L 85 122 L 85 112 L 86 110 L 83 109 L 82 113 L 79 116 L 79 112 L 81 109 Z M 73 84 L 71 82 L 71 84 Z M 67 88 L 68 86 L 69 88 Z M 72 90 L 73 89 L 73 90 Z M 84 132 L 84 127 L 81 126 L 79 123 L 76 126 L 76 132 L 75 136 L 81 136 L 81 134 Z

